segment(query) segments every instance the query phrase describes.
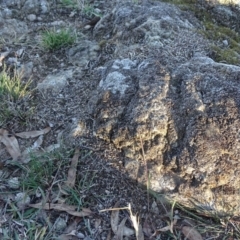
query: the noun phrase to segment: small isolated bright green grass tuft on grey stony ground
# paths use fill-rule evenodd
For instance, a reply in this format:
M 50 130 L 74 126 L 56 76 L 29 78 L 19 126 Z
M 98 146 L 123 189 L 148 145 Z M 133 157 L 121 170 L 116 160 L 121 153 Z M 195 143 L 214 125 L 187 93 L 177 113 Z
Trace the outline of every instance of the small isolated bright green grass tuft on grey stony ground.
M 42 33 L 42 45 L 46 50 L 57 50 L 71 46 L 75 43 L 76 37 L 70 29 L 52 29 Z

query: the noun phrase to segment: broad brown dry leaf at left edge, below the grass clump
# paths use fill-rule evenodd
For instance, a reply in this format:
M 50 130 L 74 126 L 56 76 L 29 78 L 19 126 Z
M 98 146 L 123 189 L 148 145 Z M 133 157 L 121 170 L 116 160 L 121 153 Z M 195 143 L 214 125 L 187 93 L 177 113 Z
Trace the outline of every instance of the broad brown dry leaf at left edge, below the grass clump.
M 21 156 L 17 139 L 13 136 L 8 137 L 7 130 L 0 129 L 0 142 L 6 146 L 7 151 L 13 160 L 17 160 Z

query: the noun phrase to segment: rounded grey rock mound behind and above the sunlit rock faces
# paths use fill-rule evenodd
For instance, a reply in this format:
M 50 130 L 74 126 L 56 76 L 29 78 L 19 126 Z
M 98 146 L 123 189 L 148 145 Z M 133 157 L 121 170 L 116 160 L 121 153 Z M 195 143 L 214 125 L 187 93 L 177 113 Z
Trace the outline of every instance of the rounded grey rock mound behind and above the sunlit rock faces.
M 208 41 L 196 31 L 201 25 L 193 16 L 166 3 L 117 6 L 94 28 L 94 36 L 109 39 L 113 56 L 140 58 L 152 54 L 161 63 L 175 67 L 186 62 L 194 52 L 207 53 Z M 155 56 L 157 57 L 157 56 Z

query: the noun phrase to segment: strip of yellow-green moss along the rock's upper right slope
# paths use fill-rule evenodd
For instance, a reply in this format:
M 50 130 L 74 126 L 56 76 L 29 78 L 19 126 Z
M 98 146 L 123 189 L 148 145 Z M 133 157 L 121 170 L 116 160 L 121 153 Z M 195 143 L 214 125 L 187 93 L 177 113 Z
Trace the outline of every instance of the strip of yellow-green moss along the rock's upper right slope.
M 202 22 L 199 30 L 205 38 L 213 42 L 211 57 L 217 62 L 240 65 L 240 34 L 231 26 L 226 27 L 217 20 L 216 13 L 206 2 L 197 3 L 196 0 L 164 0 L 164 2 L 178 5 L 182 10 L 191 11 Z M 227 41 L 227 45 L 223 43 Z

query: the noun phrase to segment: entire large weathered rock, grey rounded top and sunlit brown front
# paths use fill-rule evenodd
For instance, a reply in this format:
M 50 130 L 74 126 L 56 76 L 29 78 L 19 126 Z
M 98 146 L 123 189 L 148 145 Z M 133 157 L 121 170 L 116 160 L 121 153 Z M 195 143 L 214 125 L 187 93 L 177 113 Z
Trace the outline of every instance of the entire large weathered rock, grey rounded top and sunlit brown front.
M 206 57 L 196 19 L 183 21 L 167 4 L 145 7 L 123 6 L 107 17 L 117 23 L 121 54 L 116 46 L 114 60 L 99 69 L 89 102 L 94 134 L 121 149 L 129 174 L 143 183 L 144 155 L 153 190 L 190 207 L 238 214 L 240 68 Z M 95 35 L 109 34 L 105 20 Z

